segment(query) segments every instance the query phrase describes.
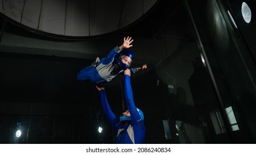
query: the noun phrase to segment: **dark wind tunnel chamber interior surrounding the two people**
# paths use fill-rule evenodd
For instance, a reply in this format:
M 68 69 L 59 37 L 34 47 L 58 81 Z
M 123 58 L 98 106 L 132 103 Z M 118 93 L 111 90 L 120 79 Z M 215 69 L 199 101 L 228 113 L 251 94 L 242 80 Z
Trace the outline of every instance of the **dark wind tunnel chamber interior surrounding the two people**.
M 146 143 L 255 143 L 255 21 L 241 5 L 0 1 L 0 143 L 115 143 L 99 91 L 76 74 L 131 34 L 132 67 L 148 65 L 131 76 Z M 117 117 L 123 83 L 106 85 Z

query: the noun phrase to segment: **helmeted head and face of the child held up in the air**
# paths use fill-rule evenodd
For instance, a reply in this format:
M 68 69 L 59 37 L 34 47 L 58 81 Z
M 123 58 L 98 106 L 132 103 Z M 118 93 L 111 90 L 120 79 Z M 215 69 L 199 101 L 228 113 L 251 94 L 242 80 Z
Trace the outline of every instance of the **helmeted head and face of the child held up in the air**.
M 129 49 L 123 49 L 119 54 L 116 54 L 115 60 L 123 70 L 126 70 L 134 60 L 134 54 Z

